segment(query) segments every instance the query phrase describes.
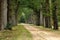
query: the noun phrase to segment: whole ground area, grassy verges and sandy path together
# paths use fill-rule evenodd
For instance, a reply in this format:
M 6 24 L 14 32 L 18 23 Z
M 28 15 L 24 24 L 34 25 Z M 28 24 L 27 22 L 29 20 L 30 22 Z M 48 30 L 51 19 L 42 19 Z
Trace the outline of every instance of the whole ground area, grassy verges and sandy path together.
M 18 24 L 13 30 L 0 31 L 0 40 L 60 40 L 60 30 Z

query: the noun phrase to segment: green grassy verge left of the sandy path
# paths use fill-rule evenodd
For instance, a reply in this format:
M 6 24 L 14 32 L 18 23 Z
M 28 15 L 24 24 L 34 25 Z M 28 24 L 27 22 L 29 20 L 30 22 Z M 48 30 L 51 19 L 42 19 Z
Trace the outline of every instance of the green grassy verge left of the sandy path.
M 0 40 L 32 40 L 32 36 L 23 25 L 18 25 L 12 30 L 0 31 Z

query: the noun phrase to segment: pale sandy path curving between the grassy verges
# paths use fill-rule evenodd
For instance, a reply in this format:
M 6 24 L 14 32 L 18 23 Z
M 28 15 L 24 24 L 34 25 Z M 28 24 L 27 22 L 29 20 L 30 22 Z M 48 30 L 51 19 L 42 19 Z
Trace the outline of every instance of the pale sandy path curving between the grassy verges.
M 31 32 L 33 40 L 60 40 L 60 36 L 56 36 L 51 32 L 41 31 L 28 24 L 24 24 L 24 27 Z

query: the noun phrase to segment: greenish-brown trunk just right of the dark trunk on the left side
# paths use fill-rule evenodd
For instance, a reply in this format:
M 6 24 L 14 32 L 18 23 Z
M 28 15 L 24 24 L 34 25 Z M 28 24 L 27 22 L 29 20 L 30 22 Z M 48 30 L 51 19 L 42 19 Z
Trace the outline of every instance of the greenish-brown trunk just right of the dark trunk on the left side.
M 16 25 L 16 15 L 17 15 L 17 13 L 15 12 L 15 10 L 16 10 L 16 2 L 15 2 L 16 0 L 11 0 L 11 2 L 13 2 L 13 3 L 11 3 L 10 5 L 11 6 L 13 6 L 13 8 L 11 8 L 11 13 L 12 13 L 12 15 L 11 15 L 11 18 L 12 18 L 12 25 Z M 13 5 L 12 5 L 13 4 Z M 16 14 L 15 14 L 16 13 Z

